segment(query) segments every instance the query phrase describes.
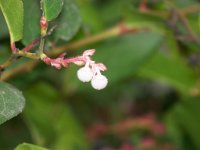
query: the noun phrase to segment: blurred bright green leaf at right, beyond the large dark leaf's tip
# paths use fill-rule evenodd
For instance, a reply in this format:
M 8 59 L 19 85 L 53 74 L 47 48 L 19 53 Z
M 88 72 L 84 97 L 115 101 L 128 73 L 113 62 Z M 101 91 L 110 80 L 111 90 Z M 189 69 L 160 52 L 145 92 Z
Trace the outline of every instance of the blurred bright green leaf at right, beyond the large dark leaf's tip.
M 166 32 L 163 51 L 148 61 L 139 75 L 172 86 L 186 94 L 196 83 L 196 75 L 187 62 L 181 58 L 180 49 L 172 32 Z

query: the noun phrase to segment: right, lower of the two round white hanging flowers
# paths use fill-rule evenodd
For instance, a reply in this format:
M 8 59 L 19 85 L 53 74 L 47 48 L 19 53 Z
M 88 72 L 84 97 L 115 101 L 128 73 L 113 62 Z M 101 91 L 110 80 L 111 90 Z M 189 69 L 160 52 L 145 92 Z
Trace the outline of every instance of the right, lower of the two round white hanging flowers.
M 94 89 L 102 90 L 107 86 L 108 79 L 102 74 L 97 74 L 92 78 L 91 84 Z

